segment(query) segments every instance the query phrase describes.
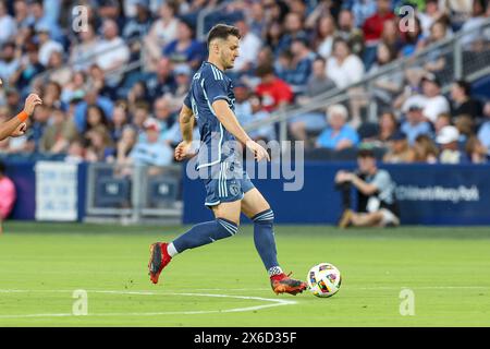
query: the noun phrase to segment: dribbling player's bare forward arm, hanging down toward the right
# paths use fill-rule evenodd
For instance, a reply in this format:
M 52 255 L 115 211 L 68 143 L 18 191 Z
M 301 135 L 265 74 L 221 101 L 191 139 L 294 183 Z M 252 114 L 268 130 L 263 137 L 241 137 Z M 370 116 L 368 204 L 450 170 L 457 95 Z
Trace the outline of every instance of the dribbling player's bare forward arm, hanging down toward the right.
M 266 158 L 270 160 L 267 151 L 258 143 L 254 142 L 245 130 L 240 124 L 235 117 L 235 113 L 230 109 L 228 101 L 224 99 L 217 99 L 212 103 L 212 109 L 215 109 L 216 117 L 221 122 L 221 124 L 226 129 L 228 132 L 233 134 L 236 140 L 245 144 L 255 154 L 257 161 Z

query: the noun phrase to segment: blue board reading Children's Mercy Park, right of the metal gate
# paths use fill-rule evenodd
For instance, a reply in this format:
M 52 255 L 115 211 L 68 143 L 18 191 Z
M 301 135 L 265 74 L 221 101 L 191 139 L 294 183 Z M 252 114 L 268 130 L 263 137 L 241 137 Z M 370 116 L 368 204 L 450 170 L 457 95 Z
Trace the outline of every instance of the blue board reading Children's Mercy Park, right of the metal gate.
M 489 225 L 489 165 L 381 165 L 397 183 L 405 225 Z M 305 163 L 304 183 L 285 191 L 285 179 L 253 179 L 274 210 L 279 224 L 330 224 L 341 216 L 341 196 L 333 179 L 354 163 Z M 212 219 L 204 207 L 203 181 L 183 177 L 184 224 Z M 242 218 L 243 224 L 249 220 Z

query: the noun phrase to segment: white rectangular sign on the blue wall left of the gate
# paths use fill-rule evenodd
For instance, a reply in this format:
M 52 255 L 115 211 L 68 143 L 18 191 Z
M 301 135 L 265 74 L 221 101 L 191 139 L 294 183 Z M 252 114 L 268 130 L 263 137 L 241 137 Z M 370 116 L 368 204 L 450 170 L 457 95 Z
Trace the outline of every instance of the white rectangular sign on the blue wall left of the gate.
M 78 166 L 39 161 L 36 172 L 36 220 L 71 221 L 78 218 Z

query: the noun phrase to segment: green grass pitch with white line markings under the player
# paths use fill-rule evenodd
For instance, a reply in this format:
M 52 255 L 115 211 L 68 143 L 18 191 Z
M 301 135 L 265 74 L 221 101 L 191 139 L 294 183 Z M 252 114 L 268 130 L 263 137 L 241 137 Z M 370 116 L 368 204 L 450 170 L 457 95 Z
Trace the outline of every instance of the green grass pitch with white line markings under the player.
M 7 222 L 0 326 L 490 325 L 490 228 L 278 226 L 286 272 L 304 279 L 320 262 L 340 268 L 342 287 L 329 299 L 272 293 L 248 225 L 176 256 L 151 285 L 149 243 L 184 229 Z M 400 313 L 405 288 L 414 315 Z M 88 315 L 75 316 L 79 289 Z

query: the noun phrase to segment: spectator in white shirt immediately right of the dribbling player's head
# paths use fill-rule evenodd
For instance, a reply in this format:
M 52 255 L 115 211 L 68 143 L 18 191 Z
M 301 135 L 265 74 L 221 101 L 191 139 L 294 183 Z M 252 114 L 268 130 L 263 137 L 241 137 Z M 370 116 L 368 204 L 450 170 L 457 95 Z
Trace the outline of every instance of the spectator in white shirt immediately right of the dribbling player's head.
M 235 26 L 240 31 L 240 56 L 235 59 L 233 71 L 237 73 L 249 72 L 254 67 L 262 43 L 260 38 L 249 31 L 244 19 L 237 21 Z

